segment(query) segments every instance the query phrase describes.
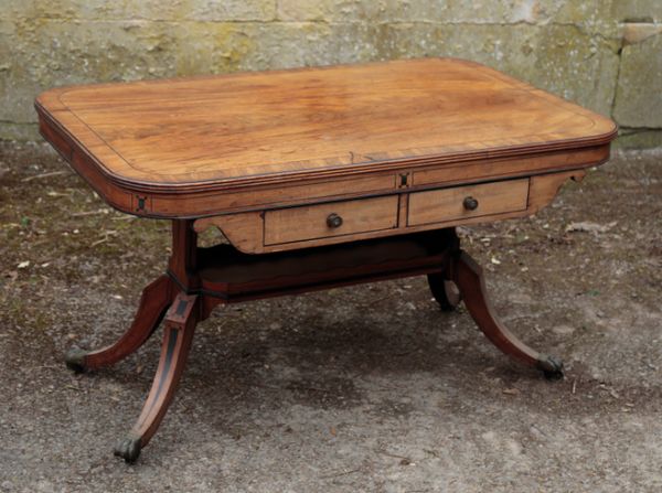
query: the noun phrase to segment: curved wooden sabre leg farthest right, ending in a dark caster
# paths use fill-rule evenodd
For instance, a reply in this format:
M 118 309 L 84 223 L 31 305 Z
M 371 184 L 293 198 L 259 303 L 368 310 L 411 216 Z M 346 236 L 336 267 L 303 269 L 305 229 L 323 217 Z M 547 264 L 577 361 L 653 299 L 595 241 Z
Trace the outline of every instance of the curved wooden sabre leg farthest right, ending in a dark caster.
M 485 336 L 503 353 L 541 369 L 548 379 L 563 378 L 563 362 L 520 341 L 492 311 L 480 266 L 465 251 L 451 260 L 450 279 L 458 286 L 467 310 Z

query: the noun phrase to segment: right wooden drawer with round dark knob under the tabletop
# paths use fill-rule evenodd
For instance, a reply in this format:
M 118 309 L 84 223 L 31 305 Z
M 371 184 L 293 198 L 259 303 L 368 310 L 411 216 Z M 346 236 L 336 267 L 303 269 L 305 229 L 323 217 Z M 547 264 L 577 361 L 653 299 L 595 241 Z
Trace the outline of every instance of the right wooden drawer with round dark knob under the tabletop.
M 414 192 L 409 195 L 407 225 L 524 211 L 527 200 L 528 179 Z

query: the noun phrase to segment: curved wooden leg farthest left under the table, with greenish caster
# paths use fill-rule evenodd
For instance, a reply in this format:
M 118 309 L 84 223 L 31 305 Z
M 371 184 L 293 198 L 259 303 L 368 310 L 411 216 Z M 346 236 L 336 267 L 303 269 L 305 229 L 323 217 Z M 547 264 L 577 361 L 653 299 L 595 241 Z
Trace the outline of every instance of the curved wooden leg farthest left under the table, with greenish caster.
M 100 368 L 124 360 L 137 351 L 159 326 L 174 296 L 174 282 L 161 276 L 142 290 L 140 306 L 129 330 L 117 342 L 97 351 L 71 349 L 66 366 L 74 372 Z

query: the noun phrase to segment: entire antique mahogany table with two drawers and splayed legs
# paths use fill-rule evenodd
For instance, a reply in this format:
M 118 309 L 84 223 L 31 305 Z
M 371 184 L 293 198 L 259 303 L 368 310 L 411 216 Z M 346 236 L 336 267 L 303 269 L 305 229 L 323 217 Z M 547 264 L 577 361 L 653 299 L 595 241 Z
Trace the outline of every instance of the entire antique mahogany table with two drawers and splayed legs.
M 450 58 L 63 87 L 40 129 L 119 211 L 172 219 L 167 272 L 129 330 L 74 371 L 111 365 L 164 321 L 158 371 L 115 453 L 134 462 L 163 419 L 195 325 L 217 304 L 427 275 L 504 353 L 563 376 L 487 299 L 455 227 L 527 216 L 605 162 L 616 125 Z M 231 245 L 196 245 L 217 227 Z

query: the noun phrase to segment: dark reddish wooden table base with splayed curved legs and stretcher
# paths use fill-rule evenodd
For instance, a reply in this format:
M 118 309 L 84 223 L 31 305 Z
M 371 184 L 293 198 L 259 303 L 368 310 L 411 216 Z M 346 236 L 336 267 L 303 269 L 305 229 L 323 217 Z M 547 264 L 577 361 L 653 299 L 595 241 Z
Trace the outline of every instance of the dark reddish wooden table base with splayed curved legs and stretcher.
M 115 449 L 135 462 L 156 433 L 181 377 L 197 322 L 217 304 L 427 275 L 442 310 L 461 300 L 487 337 L 505 354 L 563 377 L 559 360 L 543 355 L 513 335 L 490 307 L 481 268 L 460 249 L 455 228 L 309 248 L 246 255 L 231 245 L 199 248 L 192 221 L 172 222 L 167 275 L 147 286 L 129 330 L 98 351 L 73 349 L 66 364 L 76 372 L 108 366 L 138 350 L 163 321 L 159 367 L 138 421 Z

